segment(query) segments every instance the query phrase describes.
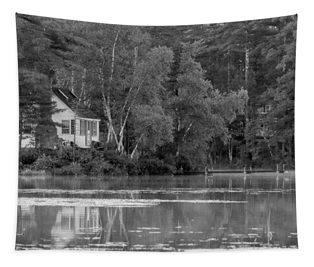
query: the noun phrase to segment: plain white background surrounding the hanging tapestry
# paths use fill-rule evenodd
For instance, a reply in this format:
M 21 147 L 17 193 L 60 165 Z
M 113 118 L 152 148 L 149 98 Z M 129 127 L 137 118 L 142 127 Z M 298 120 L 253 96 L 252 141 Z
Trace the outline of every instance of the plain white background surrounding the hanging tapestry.
M 312 255 L 313 8 L 307 0 L 3 1 L 1 4 L 2 266 L 309 266 Z M 298 13 L 296 56 L 296 197 L 298 250 L 205 253 L 15 252 L 18 178 L 18 68 L 15 12 L 112 24 L 177 25 L 264 19 Z M 310 172 L 311 171 L 311 172 Z M 4 205 L 5 203 L 5 205 Z

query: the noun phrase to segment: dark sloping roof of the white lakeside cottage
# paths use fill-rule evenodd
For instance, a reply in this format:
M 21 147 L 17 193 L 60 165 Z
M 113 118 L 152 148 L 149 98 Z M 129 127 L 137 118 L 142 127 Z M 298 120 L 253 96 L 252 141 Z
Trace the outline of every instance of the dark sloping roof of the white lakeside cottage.
M 87 119 L 98 119 L 97 115 L 82 103 L 78 103 L 78 97 L 71 91 L 62 88 L 52 88 L 52 92 L 66 104 L 78 117 Z

